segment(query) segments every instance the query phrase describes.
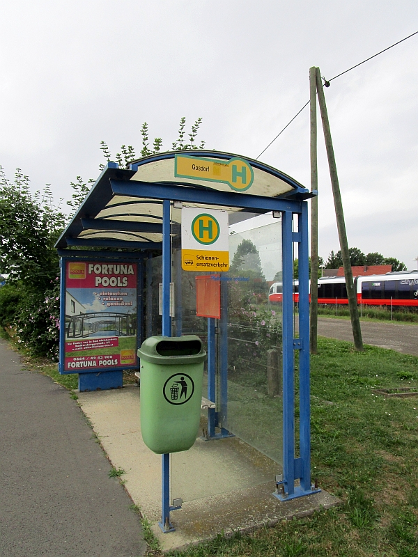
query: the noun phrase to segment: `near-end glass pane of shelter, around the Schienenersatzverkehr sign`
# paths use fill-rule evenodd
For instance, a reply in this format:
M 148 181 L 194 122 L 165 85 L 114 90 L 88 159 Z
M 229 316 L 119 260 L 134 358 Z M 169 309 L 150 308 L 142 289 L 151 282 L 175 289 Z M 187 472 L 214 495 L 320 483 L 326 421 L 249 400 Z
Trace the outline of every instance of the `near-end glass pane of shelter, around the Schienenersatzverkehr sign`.
M 179 212 L 173 210 L 177 223 Z M 178 235 L 172 244 L 173 335 L 197 334 L 207 350 L 203 315 L 215 315 L 219 299 L 220 318 L 213 319 L 215 434 L 232 436 L 207 440 L 208 410 L 203 409 L 194 446 L 171 455 L 171 496 L 192 501 L 272 482 L 282 462 L 281 303 L 272 305 L 268 292 L 281 281 L 281 220 L 230 215 L 229 272 L 184 271 Z M 203 304 L 202 288 L 213 298 Z M 208 398 L 207 362 L 203 397 Z

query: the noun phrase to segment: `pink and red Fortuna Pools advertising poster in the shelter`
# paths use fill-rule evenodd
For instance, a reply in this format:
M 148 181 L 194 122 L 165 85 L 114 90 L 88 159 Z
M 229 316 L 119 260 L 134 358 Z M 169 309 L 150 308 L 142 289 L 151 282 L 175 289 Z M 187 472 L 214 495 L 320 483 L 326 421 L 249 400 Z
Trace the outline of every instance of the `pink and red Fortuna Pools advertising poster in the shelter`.
M 65 261 L 63 372 L 137 367 L 135 262 Z

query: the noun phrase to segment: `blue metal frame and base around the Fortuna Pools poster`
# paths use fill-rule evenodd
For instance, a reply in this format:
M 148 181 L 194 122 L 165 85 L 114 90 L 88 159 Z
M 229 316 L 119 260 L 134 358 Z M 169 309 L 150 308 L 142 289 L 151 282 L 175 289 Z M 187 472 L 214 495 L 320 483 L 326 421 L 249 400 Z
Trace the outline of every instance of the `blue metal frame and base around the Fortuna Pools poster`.
M 74 252 L 77 253 L 77 252 Z M 67 261 L 85 261 L 86 258 L 80 258 L 77 255 L 71 257 L 70 254 L 65 254 L 65 257 L 61 257 L 60 268 L 61 268 L 61 284 L 60 284 L 60 315 L 59 315 L 59 373 L 60 375 L 70 375 L 77 373 L 75 370 L 65 370 L 65 293 L 67 291 L 66 276 L 65 276 L 65 265 Z M 102 261 L 104 258 L 97 256 L 94 251 L 91 252 L 91 256 L 88 257 L 91 261 Z M 139 289 L 141 288 L 140 283 L 140 267 L 141 258 L 136 258 L 137 260 L 132 261 L 131 258 L 117 257 L 116 254 L 112 254 L 111 260 L 118 260 L 120 262 L 130 262 L 137 265 L 137 294 L 139 294 Z M 140 346 L 140 325 L 141 325 L 141 313 L 139 311 L 139 306 L 137 305 L 137 349 Z M 122 386 L 122 372 L 126 369 L 139 369 L 139 363 L 131 366 L 121 366 L 118 368 L 111 368 L 109 370 L 102 369 L 89 369 L 83 372 L 78 372 L 79 375 L 79 391 L 95 391 L 96 389 L 116 389 Z

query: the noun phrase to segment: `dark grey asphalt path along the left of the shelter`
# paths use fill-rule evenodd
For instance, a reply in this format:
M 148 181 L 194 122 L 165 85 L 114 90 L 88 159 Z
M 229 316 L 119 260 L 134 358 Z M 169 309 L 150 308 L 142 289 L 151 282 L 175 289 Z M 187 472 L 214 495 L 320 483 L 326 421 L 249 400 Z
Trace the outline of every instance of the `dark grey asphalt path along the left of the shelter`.
M 143 556 L 110 468 L 68 391 L 0 340 L 0 556 Z

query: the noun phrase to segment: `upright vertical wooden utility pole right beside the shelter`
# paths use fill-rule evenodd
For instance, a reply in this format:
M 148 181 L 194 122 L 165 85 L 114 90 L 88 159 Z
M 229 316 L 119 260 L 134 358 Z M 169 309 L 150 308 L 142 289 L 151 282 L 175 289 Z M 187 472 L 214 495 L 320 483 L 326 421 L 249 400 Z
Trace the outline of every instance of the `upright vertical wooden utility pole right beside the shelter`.
M 311 106 L 311 191 L 318 189 L 316 68 L 309 68 Z M 318 197 L 311 198 L 311 354 L 318 352 Z

